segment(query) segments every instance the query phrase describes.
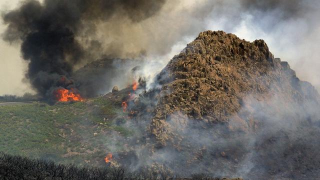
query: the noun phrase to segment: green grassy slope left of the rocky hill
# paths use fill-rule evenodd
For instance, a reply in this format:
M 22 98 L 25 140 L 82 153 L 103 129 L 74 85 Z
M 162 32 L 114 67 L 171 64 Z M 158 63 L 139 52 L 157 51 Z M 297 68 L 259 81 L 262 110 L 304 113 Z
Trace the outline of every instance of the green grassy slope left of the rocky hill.
M 114 123 L 118 114 L 121 107 L 102 97 L 55 105 L 0 106 L 0 151 L 99 166 L 107 152 L 121 147 L 108 133 L 130 135 L 130 129 Z

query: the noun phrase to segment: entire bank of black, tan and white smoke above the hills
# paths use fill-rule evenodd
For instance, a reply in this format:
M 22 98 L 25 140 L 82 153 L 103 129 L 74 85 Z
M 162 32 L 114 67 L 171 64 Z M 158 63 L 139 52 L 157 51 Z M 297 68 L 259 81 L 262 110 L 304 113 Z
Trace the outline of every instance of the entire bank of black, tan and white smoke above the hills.
M 22 1 L 21 7 L 3 15 L 8 25 L 3 38 L 10 42 L 22 40 L 25 58 L 58 58 L 56 65 L 50 60 L 36 65 L 36 61 L 30 61 L 27 77 L 36 88 L 41 83 L 34 82 L 34 73 L 41 64 L 44 72 L 61 75 L 63 71 L 65 75 L 100 57 L 133 57 L 147 65 L 155 61 L 158 65 L 145 70 L 145 75 L 150 75 L 207 29 L 232 32 L 247 40 L 266 40 L 275 56 L 289 61 L 298 76 L 318 87 L 314 74 L 319 65 L 312 52 L 317 50 L 314 39 L 320 38 L 319 6 L 318 0 Z M 31 46 L 26 47 L 29 43 L 36 50 L 30 51 Z M 103 78 L 111 82 L 114 76 L 122 74 Z M 54 82 L 43 86 L 50 84 Z M 118 84 L 108 84 L 102 92 L 113 85 Z M 38 91 L 45 93 L 42 87 Z

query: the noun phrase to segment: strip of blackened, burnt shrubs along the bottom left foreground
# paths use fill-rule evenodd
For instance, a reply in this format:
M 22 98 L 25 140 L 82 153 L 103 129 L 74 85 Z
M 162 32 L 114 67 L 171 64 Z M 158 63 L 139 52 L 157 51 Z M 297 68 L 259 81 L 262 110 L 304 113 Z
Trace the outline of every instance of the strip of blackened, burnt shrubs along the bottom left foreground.
M 203 177 L 203 178 L 201 178 Z M 165 172 L 129 172 L 123 167 L 78 167 L 76 165 L 55 164 L 52 161 L 30 159 L 0 152 L 0 179 L 193 179 L 178 178 Z M 216 179 L 197 175 L 196 179 Z

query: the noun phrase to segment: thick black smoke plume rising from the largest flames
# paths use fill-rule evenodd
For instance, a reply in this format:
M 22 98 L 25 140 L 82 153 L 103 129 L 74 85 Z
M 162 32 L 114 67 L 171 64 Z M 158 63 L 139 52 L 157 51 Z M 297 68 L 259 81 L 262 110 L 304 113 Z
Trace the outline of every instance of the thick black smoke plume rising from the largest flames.
M 81 45 L 83 38 L 91 48 L 99 42 L 88 38 L 95 23 L 125 16 L 139 22 L 156 13 L 164 0 L 25 0 L 3 14 L 7 29 L 3 39 L 21 41 L 21 55 L 29 61 L 26 77 L 45 99 L 52 99 L 56 88 L 74 89 L 70 79 L 74 65 L 89 58 Z M 92 50 L 92 49 L 90 49 Z

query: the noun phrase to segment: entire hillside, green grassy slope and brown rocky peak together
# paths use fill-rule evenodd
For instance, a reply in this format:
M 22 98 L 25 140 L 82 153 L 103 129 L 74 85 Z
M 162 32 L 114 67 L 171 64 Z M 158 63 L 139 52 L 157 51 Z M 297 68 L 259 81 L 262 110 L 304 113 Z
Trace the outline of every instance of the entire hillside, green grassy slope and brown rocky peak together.
M 99 78 L 99 64 L 108 60 L 74 74 Z M 317 178 L 319 94 L 263 40 L 201 32 L 157 74 L 152 88 L 145 83 L 142 77 L 78 102 L 0 106 L 0 151 L 181 176 Z M 99 83 L 88 86 L 79 89 L 91 93 Z M 108 153 L 112 159 L 104 160 Z

